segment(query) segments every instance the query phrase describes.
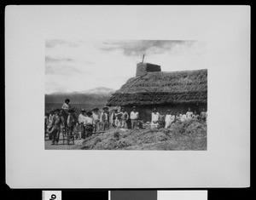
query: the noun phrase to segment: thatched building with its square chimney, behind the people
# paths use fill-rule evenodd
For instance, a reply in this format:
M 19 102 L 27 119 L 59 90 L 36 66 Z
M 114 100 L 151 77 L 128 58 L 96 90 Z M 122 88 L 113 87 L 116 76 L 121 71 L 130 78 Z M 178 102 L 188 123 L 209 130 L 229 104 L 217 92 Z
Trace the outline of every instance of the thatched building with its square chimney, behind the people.
M 207 110 L 207 70 L 161 71 L 150 63 L 137 64 L 136 77 L 131 77 L 108 100 L 107 106 L 137 106 L 140 119 L 151 120 L 154 108 L 173 114 Z

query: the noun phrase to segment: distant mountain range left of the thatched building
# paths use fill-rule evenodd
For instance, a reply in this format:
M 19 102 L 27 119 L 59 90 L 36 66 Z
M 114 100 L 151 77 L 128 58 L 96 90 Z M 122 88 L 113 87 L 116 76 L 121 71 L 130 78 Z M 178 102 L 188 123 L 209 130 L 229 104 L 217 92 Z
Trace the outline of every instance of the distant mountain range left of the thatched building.
M 45 103 L 64 103 L 70 99 L 70 104 L 105 105 L 114 89 L 98 87 L 79 92 L 45 94 Z

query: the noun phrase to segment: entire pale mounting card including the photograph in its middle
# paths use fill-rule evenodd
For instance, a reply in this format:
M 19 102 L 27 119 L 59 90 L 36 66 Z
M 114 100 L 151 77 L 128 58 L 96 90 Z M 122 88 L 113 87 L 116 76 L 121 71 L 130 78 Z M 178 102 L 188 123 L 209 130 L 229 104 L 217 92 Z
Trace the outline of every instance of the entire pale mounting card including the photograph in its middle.
M 250 186 L 250 16 L 250 6 L 7 6 L 7 185 Z

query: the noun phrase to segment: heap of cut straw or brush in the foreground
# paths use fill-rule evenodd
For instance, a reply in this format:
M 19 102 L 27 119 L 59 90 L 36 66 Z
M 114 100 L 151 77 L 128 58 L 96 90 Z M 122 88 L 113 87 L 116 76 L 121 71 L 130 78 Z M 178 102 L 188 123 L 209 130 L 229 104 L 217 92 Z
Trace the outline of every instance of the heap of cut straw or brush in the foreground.
M 84 150 L 207 150 L 207 124 L 173 123 L 170 129 L 109 129 L 93 134 L 79 147 Z

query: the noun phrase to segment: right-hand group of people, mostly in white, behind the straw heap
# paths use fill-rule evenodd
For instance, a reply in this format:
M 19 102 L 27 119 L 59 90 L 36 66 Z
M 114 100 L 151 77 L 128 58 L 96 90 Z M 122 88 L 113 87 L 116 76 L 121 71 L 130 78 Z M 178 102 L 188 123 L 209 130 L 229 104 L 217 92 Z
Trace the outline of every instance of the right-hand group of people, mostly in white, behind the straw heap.
M 160 111 L 158 112 L 155 108 L 154 111 L 152 112 L 152 117 L 151 117 L 151 128 L 165 128 L 168 129 L 171 127 L 172 123 L 175 122 L 185 122 L 185 121 L 190 121 L 190 120 L 195 120 L 195 121 L 204 121 L 207 123 L 207 111 L 203 108 L 201 113 L 198 114 L 197 111 L 192 112 L 191 109 L 189 108 L 188 111 L 183 114 L 177 112 L 176 115 L 172 113 L 172 111 L 167 110 L 166 115 L 163 115 L 163 112 Z

